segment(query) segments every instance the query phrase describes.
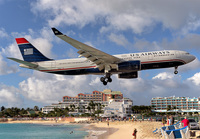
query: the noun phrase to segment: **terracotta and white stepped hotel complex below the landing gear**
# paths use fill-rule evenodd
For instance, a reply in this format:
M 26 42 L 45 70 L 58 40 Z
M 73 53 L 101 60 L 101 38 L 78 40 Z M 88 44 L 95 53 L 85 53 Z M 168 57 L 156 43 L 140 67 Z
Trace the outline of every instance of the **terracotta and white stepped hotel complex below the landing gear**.
M 93 108 L 95 111 L 104 111 L 105 108 L 109 109 L 117 106 L 118 108 L 120 108 L 120 110 L 118 111 L 122 114 L 125 113 L 124 115 L 130 115 L 130 113 L 132 112 L 131 107 L 133 105 L 133 101 L 128 98 L 123 98 L 123 94 L 120 91 L 112 91 L 109 89 L 106 89 L 102 92 L 93 91 L 92 94 L 79 93 L 75 97 L 64 96 L 62 102 L 55 103 L 50 106 L 45 106 L 42 108 L 42 112 L 47 114 L 50 111 L 53 111 L 54 108 L 69 108 L 71 114 L 90 113 L 92 110 L 88 107 L 91 107 L 91 101 L 96 104 Z M 108 105 L 109 107 L 107 107 Z M 116 115 L 119 116 L 121 114 L 116 113 Z M 121 117 L 124 117 L 124 115 L 121 115 Z

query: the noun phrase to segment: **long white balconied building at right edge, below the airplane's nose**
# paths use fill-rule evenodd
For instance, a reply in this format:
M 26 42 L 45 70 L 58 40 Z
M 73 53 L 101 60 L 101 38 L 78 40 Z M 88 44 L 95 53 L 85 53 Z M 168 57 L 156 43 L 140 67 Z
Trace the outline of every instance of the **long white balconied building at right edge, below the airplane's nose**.
M 151 99 L 151 106 L 157 112 L 167 109 L 179 112 L 200 112 L 200 97 L 156 97 Z

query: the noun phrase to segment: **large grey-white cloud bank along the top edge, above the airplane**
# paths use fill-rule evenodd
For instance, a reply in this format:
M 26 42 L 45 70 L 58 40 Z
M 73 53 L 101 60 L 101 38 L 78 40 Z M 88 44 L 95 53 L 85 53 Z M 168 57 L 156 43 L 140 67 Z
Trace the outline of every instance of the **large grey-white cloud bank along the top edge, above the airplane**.
M 34 14 L 44 17 L 50 26 L 101 24 L 101 32 L 108 30 L 132 30 L 143 33 L 161 23 L 164 28 L 186 32 L 199 28 L 199 1 L 153 1 L 153 0 L 101 0 L 59 2 L 38 0 L 32 2 Z M 169 8 L 170 7 L 170 8 Z M 194 16 L 195 15 L 195 16 Z M 183 31 L 183 32 L 185 32 Z

